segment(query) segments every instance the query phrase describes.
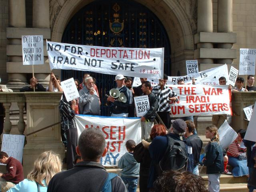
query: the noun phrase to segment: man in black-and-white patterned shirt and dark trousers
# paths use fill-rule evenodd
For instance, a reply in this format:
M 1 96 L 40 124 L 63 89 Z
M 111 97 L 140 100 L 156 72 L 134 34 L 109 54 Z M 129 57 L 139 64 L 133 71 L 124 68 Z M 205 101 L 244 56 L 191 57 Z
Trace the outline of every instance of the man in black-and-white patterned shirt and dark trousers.
M 159 109 L 158 115 L 164 122 L 167 129 L 170 128 L 170 101 L 178 102 L 178 97 L 169 87 L 165 86 L 168 76 L 164 74 L 164 78 L 159 80 L 159 84 L 154 87 L 152 92 L 158 96 Z

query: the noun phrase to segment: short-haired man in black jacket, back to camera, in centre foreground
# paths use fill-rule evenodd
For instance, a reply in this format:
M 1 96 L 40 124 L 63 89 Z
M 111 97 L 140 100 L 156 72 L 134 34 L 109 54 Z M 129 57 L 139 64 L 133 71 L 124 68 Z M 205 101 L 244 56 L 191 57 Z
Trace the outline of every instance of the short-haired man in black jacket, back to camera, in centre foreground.
M 107 152 L 103 132 L 97 128 L 84 130 L 79 139 L 76 152 L 82 157 L 74 168 L 56 174 L 49 182 L 47 192 L 92 192 L 102 191 L 108 172 L 100 158 Z M 110 180 L 112 192 L 126 192 L 124 182 L 119 176 Z

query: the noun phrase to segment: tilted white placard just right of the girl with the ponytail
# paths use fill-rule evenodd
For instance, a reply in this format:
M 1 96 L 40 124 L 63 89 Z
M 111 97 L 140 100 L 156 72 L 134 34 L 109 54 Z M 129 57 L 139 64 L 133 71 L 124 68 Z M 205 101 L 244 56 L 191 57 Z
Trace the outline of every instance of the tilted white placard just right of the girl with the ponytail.
M 230 144 L 232 144 L 238 136 L 236 131 L 229 126 L 227 120 L 225 120 L 218 129 L 218 134 L 220 136 L 220 145 L 223 149 L 226 149 Z

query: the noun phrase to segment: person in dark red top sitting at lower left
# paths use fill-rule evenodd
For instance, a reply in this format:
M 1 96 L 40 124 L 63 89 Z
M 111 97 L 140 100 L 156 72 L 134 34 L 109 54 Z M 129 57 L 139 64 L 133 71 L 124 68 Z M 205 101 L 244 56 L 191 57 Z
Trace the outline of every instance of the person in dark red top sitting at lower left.
M 0 173 L 1 192 L 6 192 L 22 180 L 23 167 L 15 158 L 9 157 L 6 152 L 0 152 L 0 163 L 6 164 L 6 173 Z

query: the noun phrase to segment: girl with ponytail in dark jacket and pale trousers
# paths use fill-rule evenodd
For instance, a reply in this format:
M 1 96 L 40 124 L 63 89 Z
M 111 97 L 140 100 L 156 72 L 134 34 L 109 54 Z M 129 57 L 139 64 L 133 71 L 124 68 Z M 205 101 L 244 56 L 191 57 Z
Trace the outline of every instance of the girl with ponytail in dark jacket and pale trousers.
M 224 171 L 224 162 L 218 128 L 215 125 L 206 127 L 205 136 L 210 139 L 204 148 L 206 156 L 203 159 L 203 164 L 206 166 L 206 174 L 208 174 L 208 191 L 219 192 L 220 174 Z

